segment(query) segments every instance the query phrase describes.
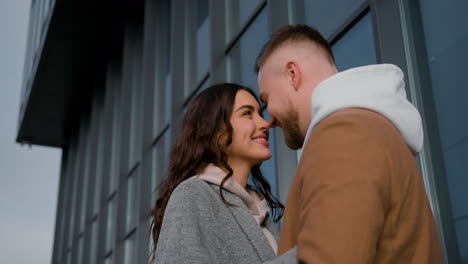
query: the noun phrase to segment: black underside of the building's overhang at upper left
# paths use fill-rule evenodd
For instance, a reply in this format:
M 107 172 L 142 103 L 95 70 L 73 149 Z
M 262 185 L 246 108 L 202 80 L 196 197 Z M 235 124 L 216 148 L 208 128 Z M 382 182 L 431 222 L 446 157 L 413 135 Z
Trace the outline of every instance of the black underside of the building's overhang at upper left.
M 93 89 L 105 86 L 107 58 L 121 52 L 122 2 L 56 1 L 36 70 L 25 78 L 17 142 L 68 145 Z

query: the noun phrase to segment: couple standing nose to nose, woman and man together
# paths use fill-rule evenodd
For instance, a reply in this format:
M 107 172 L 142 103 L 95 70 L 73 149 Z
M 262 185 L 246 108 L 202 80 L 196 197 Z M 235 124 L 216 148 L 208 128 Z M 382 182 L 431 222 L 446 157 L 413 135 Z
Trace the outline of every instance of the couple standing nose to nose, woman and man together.
M 442 263 L 413 157 L 421 118 L 401 70 L 338 73 L 326 40 L 304 25 L 274 33 L 256 70 L 270 122 L 236 84 L 189 107 L 154 209 L 155 263 Z M 273 221 L 284 207 L 259 168 L 275 126 L 303 147 L 281 236 Z

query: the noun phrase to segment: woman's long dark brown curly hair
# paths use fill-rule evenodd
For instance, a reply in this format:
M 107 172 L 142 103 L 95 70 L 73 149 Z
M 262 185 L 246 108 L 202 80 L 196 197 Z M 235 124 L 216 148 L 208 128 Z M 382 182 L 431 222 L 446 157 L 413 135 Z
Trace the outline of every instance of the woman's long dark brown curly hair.
M 230 119 L 236 94 L 240 90 L 249 92 L 259 102 L 251 89 L 237 84 L 223 83 L 207 88 L 190 104 L 171 150 L 168 175 L 158 186 L 159 197 L 152 212 L 151 259 L 154 259 L 156 254 L 169 197 L 181 182 L 202 173 L 208 164 L 212 163 L 228 172 L 221 182 L 220 195 L 226 204 L 232 206 L 224 199 L 222 186 L 233 174 L 232 168 L 227 163 L 226 149 L 232 143 L 233 130 Z M 265 197 L 272 210 L 274 221 L 278 221 L 283 216 L 284 206 L 272 195 L 270 184 L 260 171 L 260 164 L 252 167 L 251 175 L 254 186 L 249 187 Z

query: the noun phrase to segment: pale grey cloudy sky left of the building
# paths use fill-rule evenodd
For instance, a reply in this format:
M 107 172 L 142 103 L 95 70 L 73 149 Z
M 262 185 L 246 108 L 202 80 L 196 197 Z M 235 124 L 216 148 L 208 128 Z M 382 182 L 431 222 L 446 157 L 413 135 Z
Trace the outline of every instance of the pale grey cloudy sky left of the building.
M 15 142 L 31 0 L 0 0 L 0 263 L 50 263 L 62 151 Z

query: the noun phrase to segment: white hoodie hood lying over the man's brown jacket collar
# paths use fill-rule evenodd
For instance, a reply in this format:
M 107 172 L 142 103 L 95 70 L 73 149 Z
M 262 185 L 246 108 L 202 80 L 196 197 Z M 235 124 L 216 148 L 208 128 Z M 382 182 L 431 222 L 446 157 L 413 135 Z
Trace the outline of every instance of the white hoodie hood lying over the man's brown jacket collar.
M 311 122 L 304 142 L 328 115 L 345 108 L 375 111 L 389 119 L 414 154 L 421 151 L 423 129 L 418 110 L 406 98 L 404 74 L 395 65 L 353 68 L 322 81 L 312 92 Z

